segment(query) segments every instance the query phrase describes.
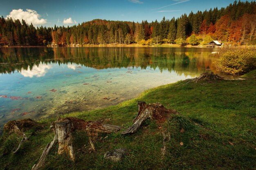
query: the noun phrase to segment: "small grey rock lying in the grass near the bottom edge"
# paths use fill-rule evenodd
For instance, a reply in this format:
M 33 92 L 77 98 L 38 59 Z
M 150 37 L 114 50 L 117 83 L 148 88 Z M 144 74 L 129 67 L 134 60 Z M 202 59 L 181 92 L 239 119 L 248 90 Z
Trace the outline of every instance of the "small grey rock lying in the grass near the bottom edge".
M 115 150 L 108 151 L 104 154 L 105 159 L 110 159 L 111 161 L 121 161 L 121 159 L 126 155 L 126 148 L 119 148 Z

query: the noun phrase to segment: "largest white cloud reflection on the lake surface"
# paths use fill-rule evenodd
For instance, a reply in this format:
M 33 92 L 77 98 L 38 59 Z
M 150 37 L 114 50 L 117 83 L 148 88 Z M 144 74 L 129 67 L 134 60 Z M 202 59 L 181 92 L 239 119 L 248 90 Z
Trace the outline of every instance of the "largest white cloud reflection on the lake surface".
M 51 65 L 47 64 L 40 64 L 38 66 L 33 66 L 33 69 L 30 70 L 30 66 L 28 66 L 27 70 L 21 68 L 20 74 L 22 74 L 24 77 L 43 77 L 45 76 L 46 70 L 52 68 Z

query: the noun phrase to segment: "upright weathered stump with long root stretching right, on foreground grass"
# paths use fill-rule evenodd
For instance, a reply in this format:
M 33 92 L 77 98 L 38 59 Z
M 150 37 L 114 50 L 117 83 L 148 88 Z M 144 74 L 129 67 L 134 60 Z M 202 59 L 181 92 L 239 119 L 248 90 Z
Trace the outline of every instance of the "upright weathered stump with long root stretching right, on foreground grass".
M 68 153 L 70 155 L 70 159 L 74 161 L 75 154 L 72 146 L 72 133 L 74 130 L 83 130 L 88 134 L 90 150 L 94 151 L 95 147 L 93 141 L 96 140 L 99 132 L 110 133 L 117 132 L 121 129 L 119 126 L 103 124 L 103 121 L 92 122 L 74 117 L 59 118 L 52 123 L 51 128 L 54 131 L 54 139 L 51 144 L 48 144 L 45 147 L 42 156 L 38 163 L 33 166 L 32 170 L 37 170 L 43 166 L 45 158 L 56 140 L 58 140 L 58 154 Z

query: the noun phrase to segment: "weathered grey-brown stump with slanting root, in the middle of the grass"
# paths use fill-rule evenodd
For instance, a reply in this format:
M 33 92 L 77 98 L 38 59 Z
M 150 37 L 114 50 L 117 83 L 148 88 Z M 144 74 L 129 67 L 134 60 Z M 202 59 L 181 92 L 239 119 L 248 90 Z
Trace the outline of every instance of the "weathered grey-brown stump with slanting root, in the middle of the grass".
M 154 119 L 157 124 L 162 124 L 171 117 L 172 114 L 177 114 L 176 110 L 166 109 L 159 103 L 146 104 L 145 102 L 138 102 L 138 110 L 138 115 L 133 120 L 132 126 L 122 132 L 123 135 L 136 132 L 142 122 L 148 118 Z

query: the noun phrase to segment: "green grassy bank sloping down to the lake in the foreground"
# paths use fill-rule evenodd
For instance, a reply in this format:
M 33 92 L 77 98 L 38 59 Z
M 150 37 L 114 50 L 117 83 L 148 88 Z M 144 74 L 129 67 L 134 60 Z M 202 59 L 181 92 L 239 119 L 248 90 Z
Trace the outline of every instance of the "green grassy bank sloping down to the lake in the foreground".
M 180 81 L 159 86 L 142 93 L 138 98 L 101 110 L 77 112 L 65 117 L 85 120 L 111 118 L 108 124 L 123 126 L 132 124 L 137 115 L 137 101 L 159 102 L 166 108 L 177 110 L 169 123 L 157 126 L 155 121 L 146 121 L 133 135 L 120 132 L 102 134 L 95 143 L 96 152 L 88 152 L 88 137 L 84 132 L 75 132 L 73 163 L 65 155 L 57 155 L 57 146 L 47 156 L 43 169 L 192 169 L 192 170 L 252 170 L 256 168 L 256 71 L 243 77 L 244 80 L 218 80 L 216 82 Z M 0 138 L 0 169 L 31 169 L 40 158 L 43 149 L 54 134 L 49 124 L 55 119 L 41 120 L 47 125 L 39 131 L 30 130 L 29 140 L 17 154 L 12 151 L 21 137 L 3 135 Z M 171 132 L 167 153 L 161 155 L 163 137 L 161 130 Z M 184 132 L 180 132 L 184 129 Z M 180 146 L 183 142 L 183 146 Z M 118 163 L 103 158 L 106 151 L 126 148 L 127 156 Z

